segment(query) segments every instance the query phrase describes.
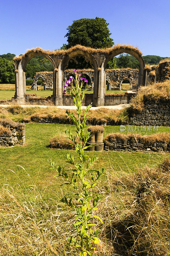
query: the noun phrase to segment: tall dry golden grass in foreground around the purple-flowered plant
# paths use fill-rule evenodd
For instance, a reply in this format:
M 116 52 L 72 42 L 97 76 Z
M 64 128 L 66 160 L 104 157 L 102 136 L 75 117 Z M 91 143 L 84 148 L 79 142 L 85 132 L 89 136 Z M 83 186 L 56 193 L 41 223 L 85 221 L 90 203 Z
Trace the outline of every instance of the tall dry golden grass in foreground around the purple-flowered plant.
M 134 169 L 110 169 L 99 185 L 102 201 L 95 214 L 104 225 L 95 220 L 101 230 L 98 256 L 168 256 L 170 160 Z M 20 189 L 4 185 L 0 191 L 0 255 L 78 255 L 78 249 L 65 245 L 67 237 L 75 236 L 74 212 L 59 202 L 65 188 L 58 199 L 43 197 L 47 187 L 39 191 L 32 184 L 25 195 Z

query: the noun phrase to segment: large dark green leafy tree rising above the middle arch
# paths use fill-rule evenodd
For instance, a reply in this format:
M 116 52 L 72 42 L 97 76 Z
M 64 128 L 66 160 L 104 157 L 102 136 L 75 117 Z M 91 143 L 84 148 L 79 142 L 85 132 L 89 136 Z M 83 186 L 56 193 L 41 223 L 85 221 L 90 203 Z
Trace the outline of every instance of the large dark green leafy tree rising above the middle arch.
M 91 48 L 107 48 L 114 45 L 110 38 L 110 31 L 107 28 L 109 23 L 105 19 L 96 17 L 95 19 L 74 20 L 67 28 L 68 44 L 63 44 L 62 49 L 68 49 L 76 44 L 81 44 Z

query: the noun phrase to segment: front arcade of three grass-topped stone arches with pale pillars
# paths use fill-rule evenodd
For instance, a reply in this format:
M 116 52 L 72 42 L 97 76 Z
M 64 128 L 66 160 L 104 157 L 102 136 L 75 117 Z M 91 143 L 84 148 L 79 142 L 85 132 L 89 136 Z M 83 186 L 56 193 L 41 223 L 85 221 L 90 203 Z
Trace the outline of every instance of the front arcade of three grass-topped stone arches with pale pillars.
M 19 104 L 25 104 L 26 95 L 26 77 L 25 68 L 29 60 L 33 57 L 41 55 L 48 59 L 54 68 L 53 71 L 53 95 L 51 100 L 56 106 L 63 105 L 63 90 L 64 90 L 64 71 L 68 66 L 71 58 L 76 56 L 84 56 L 85 60 L 90 60 L 92 68 L 94 69 L 94 89 L 93 89 L 93 106 L 104 106 L 105 91 L 106 91 L 106 65 L 113 57 L 128 53 L 134 56 L 140 64 L 138 74 L 137 87 L 144 85 L 144 60 L 142 53 L 135 47 L 128 45 L 118 45 L 108 49 L 91 49 L 84 46 L 74 46 L 66 51 L 44 51 L 41 48 L 36 48 L 27 51 L 24 55 L 14 58 L 15 68 L 15 98 Z

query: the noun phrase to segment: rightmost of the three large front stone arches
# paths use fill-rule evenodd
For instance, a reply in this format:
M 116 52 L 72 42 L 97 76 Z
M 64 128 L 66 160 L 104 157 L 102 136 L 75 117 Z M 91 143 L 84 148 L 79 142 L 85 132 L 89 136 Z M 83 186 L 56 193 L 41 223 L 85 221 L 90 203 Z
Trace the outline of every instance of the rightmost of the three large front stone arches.
M 121 54 L 121 53 L 128 53 L 135 57 L 140 65 L 140 70 L 139 70 L 139 76 L 138 76 L 138 85 L 137 88 L 139 88 L 140 85 L 144 85 L 144 59 L 142 58 L 142 55 L 139 54 L 138 51 L 135 50 L 135 48 L 130 48 L 129 46 L 120 46 L 118 49 L 112 50 L 110 54 L 107 55 L 106 60 L 104 61 L 104 69 L 106 68 L 106 65 L 109 60 L 114 58 L 115 56 Z

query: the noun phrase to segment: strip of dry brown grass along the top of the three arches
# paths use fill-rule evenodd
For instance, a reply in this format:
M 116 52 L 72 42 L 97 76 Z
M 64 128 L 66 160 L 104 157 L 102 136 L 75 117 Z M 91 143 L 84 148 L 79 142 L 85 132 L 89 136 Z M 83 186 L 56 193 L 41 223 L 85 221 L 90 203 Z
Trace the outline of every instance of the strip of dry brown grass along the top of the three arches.
M 41 47 L 36 47 L 36 48 L 27 50 L 27 52 L 25 54 L 22 54 L 21 56 L 14 57 L 13 60 L 14 61 L 20 61 L 22 58 L 25 57 L 26 54 L 28 54 L 30 52 L 37 52 L 37 53 L 38 52 L 42 52 L 42 53 L 44 53 L 46 55 L 58 56 L 58 55 L 63 55 L 63 54 L 70 54 L 73 51 L 80 50 L 80 51 L 91 53 L 91 54 L 103 53 L 103 54 L 108 54 L 109 55 L 112 52 L 114 52 L 116 50 L 119 50 L 121 48 L 130 50 L 130 51 L 134 51 L 137 54 L 142 56 L 142 52 L 137 47 L 135 47 L 133 45 L 129 45 L 129 44 L 116 44 L 114 47 L 106 48 L 106 49 L 93 49 L 93 48 L 85 47 L 83 45 L 79 45 L 78 44 L 76 46 L 71 47 L 68 50 L 58 50 L 58 51 L 43 50 Z

